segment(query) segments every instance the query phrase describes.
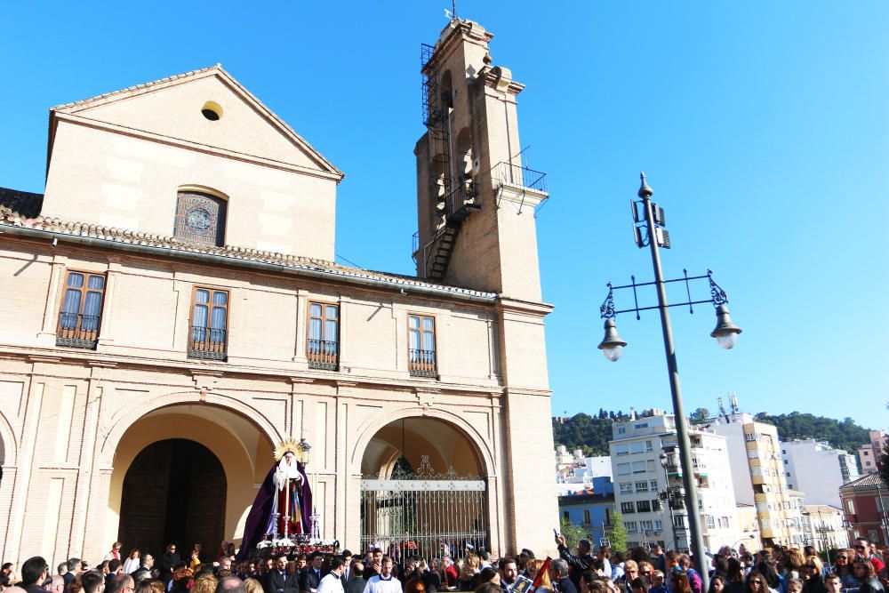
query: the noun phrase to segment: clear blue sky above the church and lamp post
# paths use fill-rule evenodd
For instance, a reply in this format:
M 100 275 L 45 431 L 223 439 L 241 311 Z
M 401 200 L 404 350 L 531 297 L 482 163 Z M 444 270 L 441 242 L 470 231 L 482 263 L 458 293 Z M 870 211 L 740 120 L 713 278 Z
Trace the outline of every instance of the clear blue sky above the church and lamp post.
M 53 105 L 221 62 L 346 172 L 337 253 L 412 273 L 420 43 L 450 4 L 0 4 L 0 186 L 43 191 Z M 656 312 L 618 318 L 620 362 L 596 349 L 605 282 L 652 278 L 629 220 L 645 170 L 674 245 L 666 275 L 712 268 L 744 328 L 726 352 L 708 307 L 673 310 L 686 407 L 735 393 L 753 413 L 889 428 L 889 4 L 461 0 L 458 12 L 527 84 L 522 144 L 549 173 L 538 238 L 554 413 L 670 407 Z

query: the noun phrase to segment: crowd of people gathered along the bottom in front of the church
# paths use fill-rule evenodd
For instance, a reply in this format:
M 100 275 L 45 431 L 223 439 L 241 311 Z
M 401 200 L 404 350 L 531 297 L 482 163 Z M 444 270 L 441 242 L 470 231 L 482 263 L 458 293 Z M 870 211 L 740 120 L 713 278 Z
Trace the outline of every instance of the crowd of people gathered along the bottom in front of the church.
M 12 565 L 0 570 L 3 593 L 885 593 L 889 590 L 889 549 L 864 539 L 849 549 L 832 550 L 825 563 L 815 550 L 778 547 L 751 554 L 741 546 L 719 550 L 706 563 L 709 589 L 687 554 L 606 546 L 589 540 L 569 549 L 557 535 L 559 555 L 543 560 L 523 549 L 515 557 L 494 558 L 484 549 L 466 549 L 454 559 L 384 555 L 272 554 L 236 561 L 224 544 L 208 561 L 200 545 L 186 556 L 174 544 L 159 562 L 134 549 L 122 557 L 115 542 L 100 565 L 71 558 L 52 573 L 42 557 L 31 557 L 17 577 Z M 397 561 L 396 561 L 397 560 Z

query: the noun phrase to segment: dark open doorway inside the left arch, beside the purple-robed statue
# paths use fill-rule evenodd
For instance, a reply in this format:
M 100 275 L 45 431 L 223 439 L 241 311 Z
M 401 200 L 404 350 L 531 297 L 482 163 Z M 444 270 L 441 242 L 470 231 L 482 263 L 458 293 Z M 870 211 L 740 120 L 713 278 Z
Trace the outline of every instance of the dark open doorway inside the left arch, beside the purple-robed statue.
M 171 438 L 145 447 L 124 477 L 118 541 L 161 554 L 175 542 L 188 557 L 193 544 L 215 549 L 223 539 L 226 476 L 204 445 Z

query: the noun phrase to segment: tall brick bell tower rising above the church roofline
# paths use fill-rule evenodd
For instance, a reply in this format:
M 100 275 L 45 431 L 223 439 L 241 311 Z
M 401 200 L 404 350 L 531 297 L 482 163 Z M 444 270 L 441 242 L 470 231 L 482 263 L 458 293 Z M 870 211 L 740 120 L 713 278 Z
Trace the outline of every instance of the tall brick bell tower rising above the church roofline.
M 493 35 L 452 20 L 423 45 L 417 142 L 417 274 L 430 282 L 541 301 L 535 208 L 544 173 L 522 166 L 517 95 L 524 84 L 492 66 Z

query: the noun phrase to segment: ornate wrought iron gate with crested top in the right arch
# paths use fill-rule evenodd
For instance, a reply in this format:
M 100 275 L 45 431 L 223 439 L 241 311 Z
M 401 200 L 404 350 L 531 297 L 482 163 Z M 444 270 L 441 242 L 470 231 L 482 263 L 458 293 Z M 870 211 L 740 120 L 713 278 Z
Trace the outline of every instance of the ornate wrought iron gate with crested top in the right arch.
M 487 484 L 438 474 L 427 455 L 413 472 L 396 468 L 388 480 L 361 480 L 361 549 L 394 557 L 462 557 L 488 544 Z

